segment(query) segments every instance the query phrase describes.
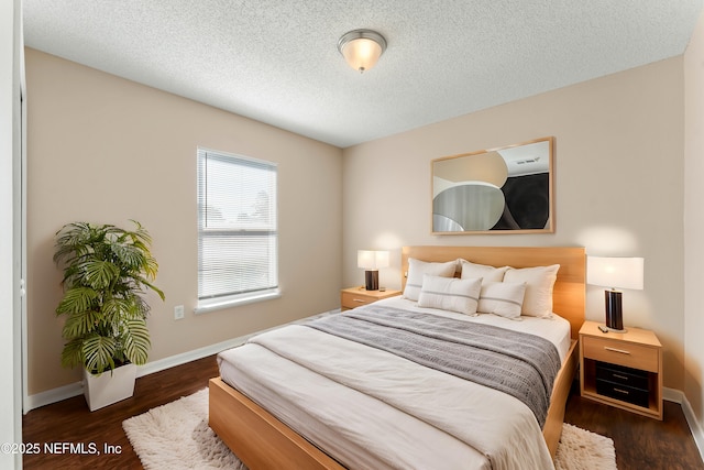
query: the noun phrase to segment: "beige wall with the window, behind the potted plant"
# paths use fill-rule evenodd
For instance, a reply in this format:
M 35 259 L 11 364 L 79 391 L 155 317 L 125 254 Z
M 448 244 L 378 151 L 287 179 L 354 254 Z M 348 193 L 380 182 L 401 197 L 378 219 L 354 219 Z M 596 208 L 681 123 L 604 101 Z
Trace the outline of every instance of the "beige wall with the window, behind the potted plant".
M 151 360 L 339 307 L 342 152 L 37 51 L 26 52 L 29 394 L 66 385 L 53 236 L 85 220 L 154 239 Z M 195 316 L 196 147 L 278 163 L 280 299 Z M 174 306 L 186 318 L 174 320 Z

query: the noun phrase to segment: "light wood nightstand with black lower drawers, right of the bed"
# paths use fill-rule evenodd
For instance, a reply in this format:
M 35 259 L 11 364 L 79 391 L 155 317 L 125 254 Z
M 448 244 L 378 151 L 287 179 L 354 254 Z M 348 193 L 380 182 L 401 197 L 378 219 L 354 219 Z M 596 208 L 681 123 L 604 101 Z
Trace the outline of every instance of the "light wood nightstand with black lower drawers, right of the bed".
M 652 331 L 580 329 L 582 396 L 662 420 L 662 345 Z

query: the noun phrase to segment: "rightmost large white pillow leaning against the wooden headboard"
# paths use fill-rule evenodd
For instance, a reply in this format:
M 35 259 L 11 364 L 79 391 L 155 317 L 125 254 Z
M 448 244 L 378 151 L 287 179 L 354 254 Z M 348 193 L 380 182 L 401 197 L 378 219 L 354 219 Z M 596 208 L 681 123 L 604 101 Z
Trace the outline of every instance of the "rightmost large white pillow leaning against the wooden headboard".
M 552 315 L 552 287 L 558 278 L 559 264 L 536 267 L 510 267 L 504 282 L 526 283 L 522 315 L 549 317 Z

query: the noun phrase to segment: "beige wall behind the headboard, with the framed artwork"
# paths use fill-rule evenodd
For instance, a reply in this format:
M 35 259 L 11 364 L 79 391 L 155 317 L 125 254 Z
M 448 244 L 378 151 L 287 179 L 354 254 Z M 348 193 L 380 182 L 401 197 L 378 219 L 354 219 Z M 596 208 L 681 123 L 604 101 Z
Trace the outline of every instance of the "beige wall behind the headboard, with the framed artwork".
M 664 384 L 683 380 L 682 57 L 510 102 L 344 150 L 343 281 L 363 283 L 358 249 L 393 250 L 382 284 L 400 284 L 404 244 L 583 245 L 646 260 L 625 323 L 664 343 Z M 431 236 L 430 161 L 556 138 L 553 234 Z M 604 295 L 587 287 L 588 319 Z

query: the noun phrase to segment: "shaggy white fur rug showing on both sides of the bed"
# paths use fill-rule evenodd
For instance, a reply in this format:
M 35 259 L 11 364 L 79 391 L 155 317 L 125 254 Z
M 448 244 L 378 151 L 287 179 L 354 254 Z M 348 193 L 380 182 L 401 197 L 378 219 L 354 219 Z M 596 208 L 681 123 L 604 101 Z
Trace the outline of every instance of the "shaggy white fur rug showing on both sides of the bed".
M 208 427 L 208 389 L 125 419 L 122 427 L 146 470 L 246 470 Z M 565 424 L 556 469 L 616 470 L 614 442 Z

